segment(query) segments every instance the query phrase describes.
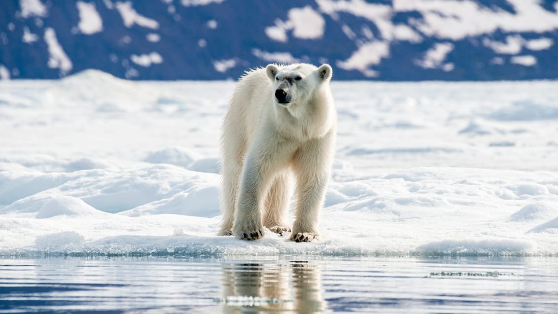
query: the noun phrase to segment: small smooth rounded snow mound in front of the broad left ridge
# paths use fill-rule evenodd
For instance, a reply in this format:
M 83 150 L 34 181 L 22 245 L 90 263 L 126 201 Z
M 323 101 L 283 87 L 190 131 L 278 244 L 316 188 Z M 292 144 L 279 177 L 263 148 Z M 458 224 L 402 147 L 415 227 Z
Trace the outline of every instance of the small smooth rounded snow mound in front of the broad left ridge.
M 99 213 L 102 214 L 101 211 L 94 209 L 76 197 L 58 196 L 42 205 L 35 218 L 51 218 L 58 215 L 88 216 Z

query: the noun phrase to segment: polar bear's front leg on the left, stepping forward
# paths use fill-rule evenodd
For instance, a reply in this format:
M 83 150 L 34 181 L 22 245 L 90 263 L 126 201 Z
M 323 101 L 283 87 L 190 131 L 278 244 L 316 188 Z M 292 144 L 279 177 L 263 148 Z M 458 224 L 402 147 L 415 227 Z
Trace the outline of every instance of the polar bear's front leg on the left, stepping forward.
M 244 162 L 233 234 L 238 239 L 257 240 L 263 236 L 262 208 L 266 192 L 277 172 L 287 167 L 292 144 L 262 138 L 254 143 Z

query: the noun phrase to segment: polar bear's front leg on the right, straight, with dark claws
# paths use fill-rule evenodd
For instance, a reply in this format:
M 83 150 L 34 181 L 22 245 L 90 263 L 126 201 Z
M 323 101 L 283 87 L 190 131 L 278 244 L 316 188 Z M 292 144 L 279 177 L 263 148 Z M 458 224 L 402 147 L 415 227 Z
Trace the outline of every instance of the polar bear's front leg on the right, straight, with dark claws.
M 295 222 L 290 240 L 309 242 L 318 236 L 320 210 L 333 163 L 333 134 L 313 139 L 295 154 L 297 176 Z

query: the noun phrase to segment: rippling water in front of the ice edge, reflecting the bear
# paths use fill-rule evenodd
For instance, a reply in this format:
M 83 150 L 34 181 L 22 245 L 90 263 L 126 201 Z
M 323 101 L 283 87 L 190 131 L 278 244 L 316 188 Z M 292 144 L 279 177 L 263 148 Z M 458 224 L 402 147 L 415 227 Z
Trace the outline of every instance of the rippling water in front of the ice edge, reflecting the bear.
M 1 313 L 558 313 L 558 258 L 0 259 Z

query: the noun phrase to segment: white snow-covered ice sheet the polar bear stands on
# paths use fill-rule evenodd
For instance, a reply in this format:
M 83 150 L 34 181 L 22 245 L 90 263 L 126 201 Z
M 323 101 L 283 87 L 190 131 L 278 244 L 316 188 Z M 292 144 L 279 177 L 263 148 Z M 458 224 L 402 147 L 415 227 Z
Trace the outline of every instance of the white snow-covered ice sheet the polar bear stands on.
M 331 84 L 322 238 L 292 243 L 215 235 L 234 82 L 1 81 L 0 254 L 558 255 L 556 81 Z

